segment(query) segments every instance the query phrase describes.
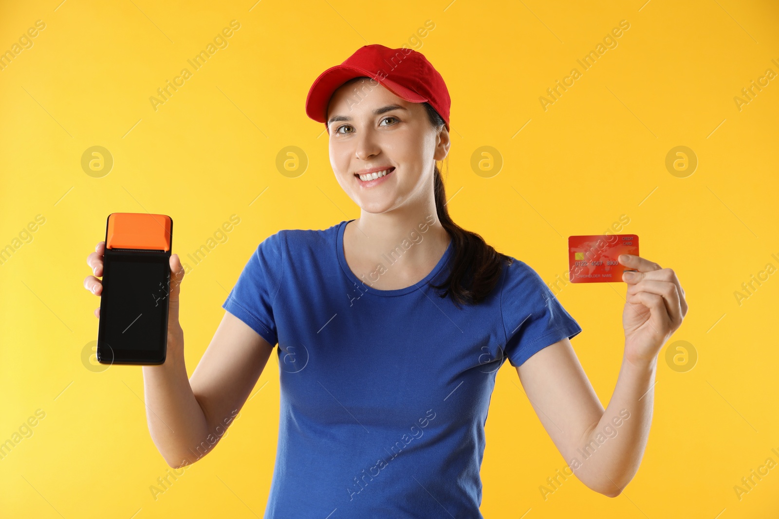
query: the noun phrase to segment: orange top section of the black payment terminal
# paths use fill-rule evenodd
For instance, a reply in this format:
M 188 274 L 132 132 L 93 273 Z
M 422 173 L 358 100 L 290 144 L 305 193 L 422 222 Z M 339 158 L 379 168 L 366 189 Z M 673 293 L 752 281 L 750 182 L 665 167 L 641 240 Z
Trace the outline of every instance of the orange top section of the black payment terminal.
M 171 217 L 139 212 L 113 212 L 108 216 L 109 249 L 171 250 Z

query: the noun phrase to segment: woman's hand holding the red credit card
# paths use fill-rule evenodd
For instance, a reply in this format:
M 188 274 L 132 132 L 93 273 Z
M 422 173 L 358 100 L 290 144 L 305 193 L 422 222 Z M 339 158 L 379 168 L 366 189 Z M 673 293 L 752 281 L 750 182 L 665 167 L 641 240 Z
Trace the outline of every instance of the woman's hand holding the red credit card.
M 638 271 L 622 274 L 628 284 L 622 311 L 625 358 L 636 365 L 653 363 L 687 314 L 684 289 L 671 268 L 633 254 L 622 254 L 619 263 Z

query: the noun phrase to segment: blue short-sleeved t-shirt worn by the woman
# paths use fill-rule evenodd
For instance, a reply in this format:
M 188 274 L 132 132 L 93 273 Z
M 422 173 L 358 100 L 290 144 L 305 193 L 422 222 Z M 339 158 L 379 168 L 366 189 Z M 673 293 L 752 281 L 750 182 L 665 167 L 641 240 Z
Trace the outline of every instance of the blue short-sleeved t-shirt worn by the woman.
M 265 517 L 482 517 L 495 373 L 581 328 L 516 258 L 478 305 L 440 298 L 428 282 L 446 279 L 451 240 L 425 279 L 373 289 L 344 258 L 348 222 L 267 237 L 223 305 L 279 345 Z

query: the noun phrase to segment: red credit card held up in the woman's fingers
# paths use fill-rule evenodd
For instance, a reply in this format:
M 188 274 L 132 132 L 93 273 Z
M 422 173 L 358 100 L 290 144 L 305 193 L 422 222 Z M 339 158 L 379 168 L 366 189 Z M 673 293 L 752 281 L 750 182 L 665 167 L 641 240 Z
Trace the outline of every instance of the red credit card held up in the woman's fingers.
M 638 256 L 636 234 L 601 234 L 568 237 L 568 277 L 573 283 L 622 282 L 619 254 Z

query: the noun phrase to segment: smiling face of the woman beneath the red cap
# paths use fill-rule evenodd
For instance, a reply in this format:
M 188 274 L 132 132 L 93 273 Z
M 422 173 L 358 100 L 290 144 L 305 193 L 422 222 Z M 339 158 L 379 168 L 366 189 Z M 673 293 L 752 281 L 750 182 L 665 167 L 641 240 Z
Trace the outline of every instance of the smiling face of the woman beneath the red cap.
M 327 121 L 330 165 L 340 187 L 365 212 L 432 199 L 433 167 L 446 157 L 449 132 L 430 124 L 421 103 L 400 99 L 370 79 L 354 79 L 333 93 Z M 376 180 L 358 177 L 388 169 L 390 174 Z

